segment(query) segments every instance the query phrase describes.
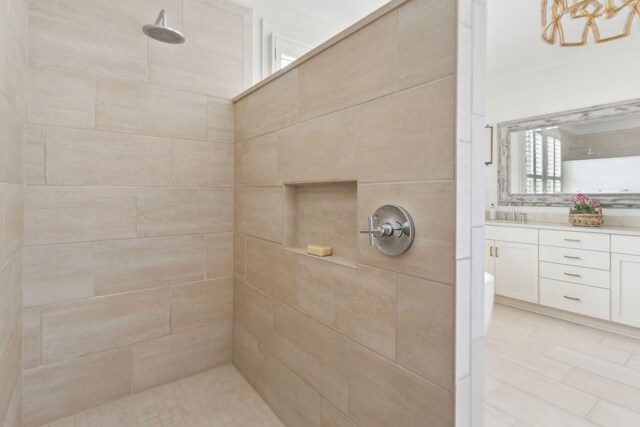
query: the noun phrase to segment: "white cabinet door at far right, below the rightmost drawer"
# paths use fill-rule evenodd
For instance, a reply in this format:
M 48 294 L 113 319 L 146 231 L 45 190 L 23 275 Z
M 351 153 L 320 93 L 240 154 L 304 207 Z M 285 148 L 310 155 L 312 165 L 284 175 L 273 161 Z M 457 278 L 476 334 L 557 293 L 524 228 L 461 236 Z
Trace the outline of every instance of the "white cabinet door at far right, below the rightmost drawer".
M 640 327 L 640 256 L 611 254 L 611 320 Z

